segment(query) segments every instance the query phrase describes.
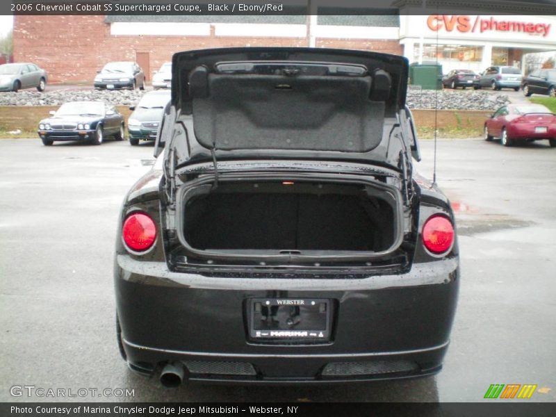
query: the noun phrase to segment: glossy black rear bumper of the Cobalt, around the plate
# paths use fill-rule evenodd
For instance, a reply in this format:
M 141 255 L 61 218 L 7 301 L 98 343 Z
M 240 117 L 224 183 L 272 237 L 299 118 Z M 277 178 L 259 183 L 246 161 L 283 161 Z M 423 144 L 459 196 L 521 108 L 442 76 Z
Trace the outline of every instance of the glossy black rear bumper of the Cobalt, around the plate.
M 431 375 L 441 369 L 455 314 L 457 258 L 365 279 L 219 278 L 165 263 L 115 260 L 117 314 L 130 368 L 181 361 L 188 379 L 318 383 Z M 255 343 L 245 305 L 256 297 L 332 300 L 332 340 Z

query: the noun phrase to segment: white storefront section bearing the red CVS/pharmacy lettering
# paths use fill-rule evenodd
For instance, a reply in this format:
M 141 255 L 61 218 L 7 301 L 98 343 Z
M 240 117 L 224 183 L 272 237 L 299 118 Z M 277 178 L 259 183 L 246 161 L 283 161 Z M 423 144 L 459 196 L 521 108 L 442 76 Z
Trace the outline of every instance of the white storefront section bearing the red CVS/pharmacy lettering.
M 410 62 L 437 61 L 443 72 L 511 65 L 556 50 L 555 16 L 402 15 L 400 44 Z

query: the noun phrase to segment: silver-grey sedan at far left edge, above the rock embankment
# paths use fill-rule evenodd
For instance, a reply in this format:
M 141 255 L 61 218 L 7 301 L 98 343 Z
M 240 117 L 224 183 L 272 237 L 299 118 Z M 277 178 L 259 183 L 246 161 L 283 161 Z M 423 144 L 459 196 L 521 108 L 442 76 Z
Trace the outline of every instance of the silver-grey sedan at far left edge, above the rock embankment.
M 0 91 L 15 91 L 22 88 L 47 88 L 47 72 L 31 63 L 0 65 Z

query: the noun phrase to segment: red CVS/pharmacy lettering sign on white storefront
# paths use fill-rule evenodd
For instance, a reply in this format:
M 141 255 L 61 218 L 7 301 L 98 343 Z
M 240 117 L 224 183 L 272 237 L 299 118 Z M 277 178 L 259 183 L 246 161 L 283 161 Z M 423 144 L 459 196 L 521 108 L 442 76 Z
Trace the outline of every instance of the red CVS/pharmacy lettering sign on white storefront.
M 431 31 L 457 31 L 460 33 L 521 32 L 528 35 L 548 36 L 550 23 L 523 22 L 518 16 L 483 17 L 468 15 L 430 15 L 427 26 Z

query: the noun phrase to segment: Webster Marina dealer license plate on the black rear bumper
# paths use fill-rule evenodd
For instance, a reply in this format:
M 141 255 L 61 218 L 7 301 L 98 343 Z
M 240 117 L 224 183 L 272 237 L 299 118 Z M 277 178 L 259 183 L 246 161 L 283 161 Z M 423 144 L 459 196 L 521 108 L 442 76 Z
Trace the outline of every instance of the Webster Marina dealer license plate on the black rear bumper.
M 254 298 L 248 300 L 247 309 L 252 341 L 318 343 L 330 340 L 330 300 Z

